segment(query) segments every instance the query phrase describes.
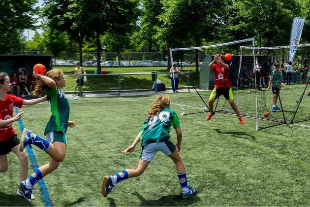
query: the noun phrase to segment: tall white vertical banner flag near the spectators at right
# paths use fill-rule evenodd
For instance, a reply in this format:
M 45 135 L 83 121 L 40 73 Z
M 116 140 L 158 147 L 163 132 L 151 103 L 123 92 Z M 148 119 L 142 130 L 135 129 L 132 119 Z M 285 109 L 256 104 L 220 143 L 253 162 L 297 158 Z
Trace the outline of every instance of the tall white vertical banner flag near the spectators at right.
M 293 19 L 292 30 L 291 30 L 291 42 L 290 45 L 299 44 L 301 34 L 303 32 L 305 19 L 301 17 L 296 17 Z M 289 61 L 293 61 L 295 54 L 297 51 L 297 47 L 289 48 Z

